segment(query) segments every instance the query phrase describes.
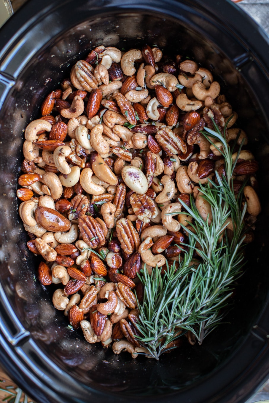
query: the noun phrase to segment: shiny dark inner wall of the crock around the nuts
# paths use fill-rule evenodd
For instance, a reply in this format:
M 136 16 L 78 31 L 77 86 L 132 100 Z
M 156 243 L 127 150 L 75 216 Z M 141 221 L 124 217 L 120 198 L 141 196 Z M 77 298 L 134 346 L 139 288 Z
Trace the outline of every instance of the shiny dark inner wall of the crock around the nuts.
M 60 15 L 54 15 L 57 22 Z M 219 38 L 219 42 L 224 39 Z M 259 161 L 258 179 L 263 212 L 256 223 L 255 241 L 248 245 L 248 263 L 238 280 L 232 299 L 233 309 L 200 346 L 184 343 L 183 347 L 161 356 L 159 362 L 142 356 L 133 360 L 128 353 L 114 355 L 100 345 L 90 345 L 81 331 L 67 328 L 63 312 L 54 310 L 51 287 L 36 280 L 38 260 L 28 251 L 27 234 L 17 214 L 16 181 L 22 161 L 23 129 L 31 119 L 40 116 L 39 106 L 53 88 L 68 77 L 71 66 L 98 44 L 128 50 L 143 44 L 158 45 L 171 56 L 182 54 L 194 58 L 210 69 L 221 84 L 221 93 L 238 112 L 238 127 L 249 137 L 249 148 Z M 227 44 L 226 44 L 227 45 Z M 227 45 L 229 46 L 229 44 Z M 230 44 L 236 56 L 236 44 Z M 173 393 L 211 376 L 246 338 L 255 324 L 267 297 L 268 270 L 265 238 L 268 234 L 266 189 L 268 184 L 267 127 L 261 113 L 260 100 L 254 94 L 255 77 L 249 85 L 244 71 L 256 69 L 248 60 L 235 69 L 214 44 L 213 36 L 201 33 L 175 19 L 152 14 L 122 13 L 85 21 L 53 38 L 38 54 L 34 54 L 19 75 L 1 111 L 1 165 L 4 189 L 1 196 L 4 254 L 1 266 L 2 285 L 14 312 L 40 349 L 63 371 L 81 382 L 110 393 L 158 395 Z M 11 192 L 10 192 L 11 189 Z M 2 193 L 2 192 L 1 192 Z M 36 359 L 36 357 L 35 357 Z

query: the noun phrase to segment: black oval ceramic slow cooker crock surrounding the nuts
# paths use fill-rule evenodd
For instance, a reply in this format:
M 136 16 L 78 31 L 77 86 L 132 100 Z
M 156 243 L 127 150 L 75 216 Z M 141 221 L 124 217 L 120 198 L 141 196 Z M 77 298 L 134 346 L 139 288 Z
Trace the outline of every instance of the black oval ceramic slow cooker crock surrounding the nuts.
M 158 45 L 213 72 L 259 161 L 263 211 L 233 309 L 199 346 L 161 356 L 117 356 L 71 332 L 36 281 L 17 214 L 23 129 L 71 65 L 98 44 Z M 36 401 L 244 402 L 269 376 L 269 45 L 226 0 L 30 0 L 0 31 L 0 359 Z

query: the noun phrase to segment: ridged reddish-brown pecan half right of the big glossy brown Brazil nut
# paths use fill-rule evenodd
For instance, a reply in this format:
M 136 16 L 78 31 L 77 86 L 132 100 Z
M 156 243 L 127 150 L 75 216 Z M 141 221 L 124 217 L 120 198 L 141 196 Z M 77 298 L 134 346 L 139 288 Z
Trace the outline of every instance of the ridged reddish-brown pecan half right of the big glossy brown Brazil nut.
M 79 230 L 83 241 L 85 241 L 90 248 L 95 249 L 98 246 L 104 245 L 106 242 L 101 225 L 92 216 L 82 214 L 79 217 Z

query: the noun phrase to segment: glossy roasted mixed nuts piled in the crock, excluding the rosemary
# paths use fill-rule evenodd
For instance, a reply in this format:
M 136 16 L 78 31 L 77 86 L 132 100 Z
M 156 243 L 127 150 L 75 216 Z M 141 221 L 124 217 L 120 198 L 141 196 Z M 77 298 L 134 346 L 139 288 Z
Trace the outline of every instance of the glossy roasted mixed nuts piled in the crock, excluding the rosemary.
M 188 243 L 181 224 L 188 228 L 190 220 L 178 214 L 182 200 L 190 204 L 192 195 L 212 220 L 198 187 L 216 171 L 225 175 L 221 144 L 200 133 L 213 129 L 212 118 L 222 133 L 227 124 L 227 143 L 244 139 L 234 191 L 248 181 L 246 227 L 253 227 L 261 210 L 258 164 L 220 91 L 209 70 L 156 46 L 98 46 L 26 127 L 17 196 L 27 246 L 42 256 L 41 284 L 57 285 L 54 307 L 89 343 L 146 353 L 136 339 L 137 273 L 142 264 L 150 272 L 179 262 L 178 245 Z M 246 241 L 252 237 L 248 231 Z

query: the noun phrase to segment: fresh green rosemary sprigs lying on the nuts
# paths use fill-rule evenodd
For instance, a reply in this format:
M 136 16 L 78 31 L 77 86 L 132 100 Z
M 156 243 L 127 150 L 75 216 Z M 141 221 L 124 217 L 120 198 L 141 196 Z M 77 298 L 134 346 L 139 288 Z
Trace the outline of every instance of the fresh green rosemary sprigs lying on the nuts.
M 215 182 L 209 179 L 206 185 L 199 185 L 200 195 L 209 203 L 212 217 L 208 215 L 204 220 L 194 199 L 190 199 L 190 207 L 182 202 L 192 222 L 188 228 L 182 225 L 188 231 L 188 244 L 182 245 L 184 249 L 179 245 L 183 255 L 179 267 L 176 270 L 175 263 L 171 267 L 167 264 L 164 274 L 156 267 L 151 275 L 144 268 L 140 274 L 144 299 L 142 303 L 138 301 L 137 328 L 141 336 L 137 339 L 156 359 L 175 348 L 176 340 L 184 332 L 192 332 L 198 343 L 202 343 L 222 321 L 223 308 L 228 305 L 234 281 L 243 266 L 244 185 L 236 197 L 232 174 L 238 157 L 232 156 L 234 147 L 229 147 L 225 141 L 226 127 L 222 135 L 214 121 L 213 125 L 214 131 L 205 128 L 201 133 L 211 143 L 212 138 L 221 142 L 219 151 L 225 159 L 225 176 L 220 177 L 215 172 Z M 232 239 L 226 231 L 228 225 L 233 231 Z M 196 260 L 194 251 L 199 256 Z

